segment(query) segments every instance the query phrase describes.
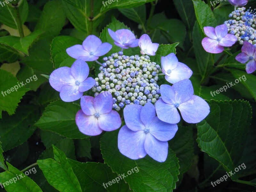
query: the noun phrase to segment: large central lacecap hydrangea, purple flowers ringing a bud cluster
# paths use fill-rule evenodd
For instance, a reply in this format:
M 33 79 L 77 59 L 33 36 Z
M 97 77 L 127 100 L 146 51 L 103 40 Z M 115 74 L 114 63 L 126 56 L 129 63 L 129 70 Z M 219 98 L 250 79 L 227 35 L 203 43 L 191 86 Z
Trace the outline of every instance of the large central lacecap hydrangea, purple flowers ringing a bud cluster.
M 95 136 L 103 131 L 114 131 L 120 128 L 124 118 L 125 125 L 118 133 L 120 152 L 131 159 L 148 154 L 164 162 L 168 154 L 167 141 L 178 130 L 178 110 L 186 122 L 198 123 L 209 114 L 209 105 L 194 95 L 188 80 L 192 70 L 179 62 L 174 53 L 162 55 L 161 64 L 152 62 L 150 57 L 156 55 L 159 44 L 152 43 L 147 34 L 137 39 L 128 29 L 108 29 L 108 32 L 115 45 L 121 48 L 119 52 L 103 57 L 101 63 L 99 57 L 106 55 L 112 45 L 90 35 L 82 45 L 67 49 L 68 55 L 76 61 L 71 68 L 54 70 L 50 84 L 65 102 L 81 98 L 76 125 L 82 133 Z M 137 46 L 140 54 L 124 54 L 126 49 Z M 88 77 L 90 69 L 86 61 L 100 65 L 96 78 Z M 160 76 L 165 76 L 173 85 L 160 86 Z M 94 97 L 83 96 L 90 89 Z M 168 119 L 168 116 L 173 118 Z

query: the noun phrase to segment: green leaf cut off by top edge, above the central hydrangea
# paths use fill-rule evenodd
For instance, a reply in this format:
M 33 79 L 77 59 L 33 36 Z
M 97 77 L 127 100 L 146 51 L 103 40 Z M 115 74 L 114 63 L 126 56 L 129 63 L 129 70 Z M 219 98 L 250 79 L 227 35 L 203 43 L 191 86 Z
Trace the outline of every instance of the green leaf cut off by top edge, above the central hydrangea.
M 100 14 L 103 14 L 104 12 L 107 12 L 110 9 L 121 9 L 121 8 L 132 8 L 132 7 L 138 7 L 142 4 L 149 3 L 154 0 L 113 0 L 108 1 L 107 5 L 106 2 L 101 6 Z M 110 4 L 109 4 L 110 2 Z

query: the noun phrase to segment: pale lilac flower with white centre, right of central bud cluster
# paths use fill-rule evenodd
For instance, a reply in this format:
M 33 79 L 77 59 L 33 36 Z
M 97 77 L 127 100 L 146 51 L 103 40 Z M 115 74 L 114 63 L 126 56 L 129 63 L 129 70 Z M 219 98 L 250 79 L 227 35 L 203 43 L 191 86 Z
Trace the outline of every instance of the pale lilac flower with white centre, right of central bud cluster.
M 171 84 L 183 79 L 189 79 L 193 73 L 187 65 L 178 61 L 174 53 L 161 57 L 161 65 L 166 81 Z

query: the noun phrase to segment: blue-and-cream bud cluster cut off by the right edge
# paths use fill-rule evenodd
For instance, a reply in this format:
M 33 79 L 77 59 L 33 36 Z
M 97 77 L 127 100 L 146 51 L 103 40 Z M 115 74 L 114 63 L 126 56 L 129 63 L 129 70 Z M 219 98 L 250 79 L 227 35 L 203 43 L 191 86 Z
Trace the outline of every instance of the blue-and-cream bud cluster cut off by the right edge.
M 255 10 L 251 8 L 245 11 L 245 7 L 238 8 L 229 14 L 231 20 L 225 21 L 224 24 L 228 27 L 228 32 L 237 37 L 239 44 L 247 41 L 256 47 L 256 18 Z

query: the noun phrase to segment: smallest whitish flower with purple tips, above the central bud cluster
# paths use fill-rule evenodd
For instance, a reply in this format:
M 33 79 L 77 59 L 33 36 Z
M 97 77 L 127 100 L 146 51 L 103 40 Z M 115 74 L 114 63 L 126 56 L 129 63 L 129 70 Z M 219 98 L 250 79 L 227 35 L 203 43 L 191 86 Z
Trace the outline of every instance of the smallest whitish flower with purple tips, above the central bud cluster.
M 139 39 L 140 53 L 142 55 L 156 55 L 156 51 L 159 47 L 158 43 L 152 43 L 150 37 L 147 34 L 144 34 Z

